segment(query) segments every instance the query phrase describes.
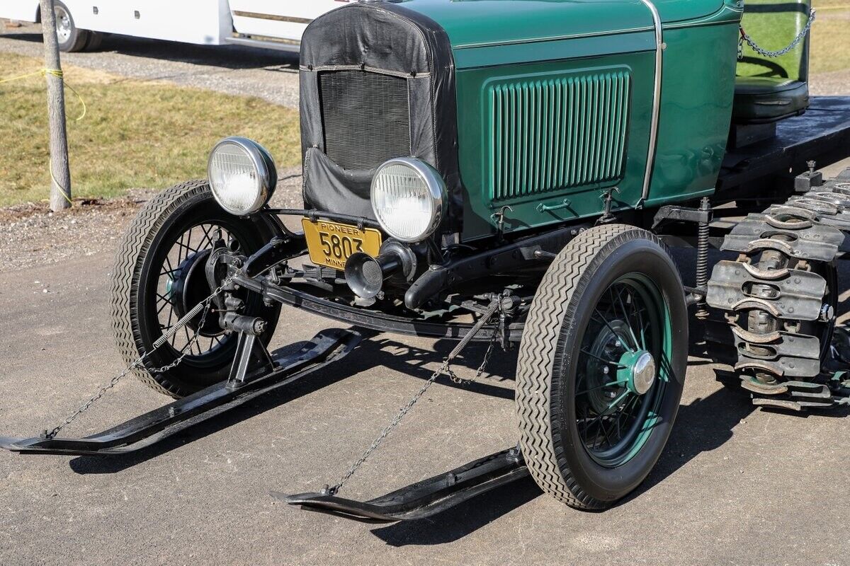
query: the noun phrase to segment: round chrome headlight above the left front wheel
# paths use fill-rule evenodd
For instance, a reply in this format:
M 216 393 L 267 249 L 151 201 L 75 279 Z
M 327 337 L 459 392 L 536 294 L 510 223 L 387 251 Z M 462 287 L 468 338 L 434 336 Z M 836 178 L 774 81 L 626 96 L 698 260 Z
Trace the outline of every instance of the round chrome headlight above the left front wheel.
M 263 208 L 277 185 L 275 160 L 263 146 L 245 137 L 225 137 L 216 143 L 207 174 L 218 205 L 236 216 Z

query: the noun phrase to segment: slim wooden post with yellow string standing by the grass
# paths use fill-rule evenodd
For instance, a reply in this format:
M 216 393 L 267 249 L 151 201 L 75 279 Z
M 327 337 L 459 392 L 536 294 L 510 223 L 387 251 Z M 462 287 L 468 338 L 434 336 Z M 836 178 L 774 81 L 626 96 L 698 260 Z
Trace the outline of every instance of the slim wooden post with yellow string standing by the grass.
M 56 37 L 54 0 L 41 0 L 44 67 L 61 71 L 59 39 Z M 68 134 L 65 131 L 65 87 L 61 76 L 47 73 L 48 122 L 50 127 L 50 210 L 71 207 L 71 170 L 68 165 Z

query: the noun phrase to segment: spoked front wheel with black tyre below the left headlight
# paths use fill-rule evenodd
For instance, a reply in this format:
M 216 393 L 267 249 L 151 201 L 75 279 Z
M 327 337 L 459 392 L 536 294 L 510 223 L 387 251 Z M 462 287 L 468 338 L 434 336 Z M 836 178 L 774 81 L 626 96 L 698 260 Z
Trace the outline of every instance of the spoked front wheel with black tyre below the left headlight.
M 231 216 L 216 203 L 206 181 L 178 184 L 150 200 L 124 235 L 112 271 L 111 318 L 118 350 L 127 365 L 147 352 L 184 314 L 212 293 L 205 273 L 207 258 L 218 230 L 223 239 L 235 239 L 247 255 L 279 235 L 270 219 L 246 220 Z M 280 305 L 263 305 L 257 294 L 243 291 L 245 314 L 268 322 L 261 336 L 269 343 L 280 316 Z M 214 314 L 204 319 L 199 339 L 191 337 L 201 326 L 195 317 L 144 361 L 134 373 L 151 388 L 183 397 L 228 377 L 235 357 L 236 335 L 224 332 Z M 177 367 L 165 367 L 188 350 Z

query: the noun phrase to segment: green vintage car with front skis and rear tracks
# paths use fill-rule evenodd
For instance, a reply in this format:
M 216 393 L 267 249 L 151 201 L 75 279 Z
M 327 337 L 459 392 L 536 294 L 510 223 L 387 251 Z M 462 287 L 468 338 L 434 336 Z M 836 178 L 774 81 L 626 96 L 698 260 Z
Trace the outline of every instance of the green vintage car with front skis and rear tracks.
M 118 346 L 178 401 L 88 439 L 4 446 L 133 451 L 380 332 L 458 345 L 343 479 L 287 502 L 422 518 L 530 474 L 572 507 L 607 507 L 660 457 L 689 348 L 728 361 L 721 377 L 757 405 L 846 406 L 833 334 L 850 171 L 825 180 L 810 162 L 850 155 L 850 99 L 808 95 L 813 18 L 793 0 L 388 0 L 321 16 L 300 57 L 303 209 L 270 205 L 274 160 L 229 137 L 209 180 L 152 199 L 122 244 Z M 272 356 L 282 305 L 351 328 Z M 371 502 L 339 496 L 428 385 L 467 382 L 450 363 L 473 340 L 484 363 L 519 346 L 518 445 Z

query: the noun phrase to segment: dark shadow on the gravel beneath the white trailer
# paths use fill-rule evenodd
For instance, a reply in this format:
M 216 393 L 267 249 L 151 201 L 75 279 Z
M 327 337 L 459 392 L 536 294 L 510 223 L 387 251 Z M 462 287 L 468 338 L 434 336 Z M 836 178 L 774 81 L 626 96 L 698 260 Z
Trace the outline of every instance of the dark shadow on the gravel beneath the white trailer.
M 3 39 L 41 43 L 40 33 L 4 34 Z M 101 47 L 94 52 L 77 57 L 96 56 L 98 53 L 120 53 L 147 59 L 165 59 L 177 63 L 190 63 L 228 70 L 258 69 L 297 73 L 298 53 L 273 49 L 246 48 L 239 45 L 195 45 L 193 43 L 167 42 L 141 37 L 107 34 Z

